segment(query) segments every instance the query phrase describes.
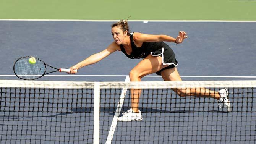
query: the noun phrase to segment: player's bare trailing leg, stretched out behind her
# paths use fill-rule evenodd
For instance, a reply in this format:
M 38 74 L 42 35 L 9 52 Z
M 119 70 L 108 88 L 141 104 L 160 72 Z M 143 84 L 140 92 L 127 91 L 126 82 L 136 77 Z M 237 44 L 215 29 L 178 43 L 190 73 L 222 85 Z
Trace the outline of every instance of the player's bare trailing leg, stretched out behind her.
M 180 74 L 176 67 L 171 69 L 165 69 L 161 72 L 161 76 L 164 81 L 182 81 Z M 188 88 L 188 89 L 173 89 L 181 97 L 196 96 L 196 97 L 212 97 L 219 100 L 219 92 L 211 91 L 205 88 Z

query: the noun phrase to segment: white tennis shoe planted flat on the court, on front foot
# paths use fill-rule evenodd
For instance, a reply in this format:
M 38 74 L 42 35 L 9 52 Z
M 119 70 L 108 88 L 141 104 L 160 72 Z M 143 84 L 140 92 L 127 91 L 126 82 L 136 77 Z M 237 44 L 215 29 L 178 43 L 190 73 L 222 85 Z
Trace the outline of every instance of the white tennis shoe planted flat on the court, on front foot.
M 127 110 L 123 113 L 123 116 L 119 117 L 117 121 L 141 121 L 141 111 L 139 110 L 138 113 L 133 112 L 133 109 Z

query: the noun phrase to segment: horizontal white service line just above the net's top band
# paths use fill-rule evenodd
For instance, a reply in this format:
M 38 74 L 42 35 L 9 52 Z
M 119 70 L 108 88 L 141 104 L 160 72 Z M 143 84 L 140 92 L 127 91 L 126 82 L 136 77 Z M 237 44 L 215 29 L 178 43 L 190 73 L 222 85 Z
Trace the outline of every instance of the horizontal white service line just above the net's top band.
M 31 75 L 33 76 L 33 75 Z M 44 77 L 126 77 L 128 75 L 45 75 Z M 0 75 L 0 77 L 16 77 L 15 75 Z M 161 76 L 146 76 L 161 77 Z M 180 76 L 183 78 L 256 78 L 256 76 Z

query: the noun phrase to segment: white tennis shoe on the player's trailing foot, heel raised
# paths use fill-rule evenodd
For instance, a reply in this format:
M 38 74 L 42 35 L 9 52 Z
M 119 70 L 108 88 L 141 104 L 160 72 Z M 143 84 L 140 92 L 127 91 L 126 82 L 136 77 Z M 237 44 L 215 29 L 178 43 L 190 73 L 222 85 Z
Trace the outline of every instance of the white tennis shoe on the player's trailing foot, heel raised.
M 220 99 L 218 101 L 218 105 L 220 108 L 224 107 L 228 112 L 231 111 L 230 101 L 228 99 L 228 90 L 220 89 L 219 90 Z

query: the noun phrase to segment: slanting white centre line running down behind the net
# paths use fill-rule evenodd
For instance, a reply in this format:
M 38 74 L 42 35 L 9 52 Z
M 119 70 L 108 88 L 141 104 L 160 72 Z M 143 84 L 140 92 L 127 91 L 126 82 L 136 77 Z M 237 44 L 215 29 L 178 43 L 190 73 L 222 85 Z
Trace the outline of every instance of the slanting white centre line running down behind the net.
M 125 82 L 128 82 L 128 81 L 130 81 L 130 78 L 129 76 L 126 76 Z M 127 91 L 127 88 L 122 89 L 120 100 L 118 102 L 117 109 L 115 110 L 115 115 L 113 117 L 112 124 L 109 129 L 109 135 L 107 136 L 106 144 L 111 144 L 112 142 L 113 136 L 115 134 L 115 128 L 117 126 L 117 118 L 120 115 L 120 112 L 123 106 L 123 101 L 125 99 L 126 91 Z

